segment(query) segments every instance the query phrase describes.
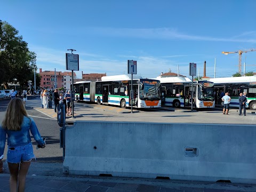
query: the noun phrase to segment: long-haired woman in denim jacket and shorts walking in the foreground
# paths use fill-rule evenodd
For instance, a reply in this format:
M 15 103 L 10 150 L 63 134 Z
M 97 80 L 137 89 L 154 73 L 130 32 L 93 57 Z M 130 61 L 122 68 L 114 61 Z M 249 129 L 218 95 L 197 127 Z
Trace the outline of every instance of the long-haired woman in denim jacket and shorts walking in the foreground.
M 45 147 L 45 142 L 34 120 L 28 117 L 23 101 L 14 98 L 9 102 L 2 125 L 0 126 L 0 163 L 2 162 L 7 135 L 7 163 L 10 170 L 10 191 L 24 191 L 26 175 L 35 158 L 30 133 L 38 145 Z M 19 185 L 18 185 L 19 183 Z

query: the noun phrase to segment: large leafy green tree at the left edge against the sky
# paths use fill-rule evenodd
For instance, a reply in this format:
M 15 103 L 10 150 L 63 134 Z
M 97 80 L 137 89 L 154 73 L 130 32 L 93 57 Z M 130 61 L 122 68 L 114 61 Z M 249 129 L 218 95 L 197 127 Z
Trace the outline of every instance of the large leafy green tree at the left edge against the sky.
M 5 87 L 14 82 L 13 79 L 17 79 L 21 87 L 34 79 L 36 54 L 29 51 L 27 42 L 18 33 L 9 23 L 0 20 L 0 83 Z

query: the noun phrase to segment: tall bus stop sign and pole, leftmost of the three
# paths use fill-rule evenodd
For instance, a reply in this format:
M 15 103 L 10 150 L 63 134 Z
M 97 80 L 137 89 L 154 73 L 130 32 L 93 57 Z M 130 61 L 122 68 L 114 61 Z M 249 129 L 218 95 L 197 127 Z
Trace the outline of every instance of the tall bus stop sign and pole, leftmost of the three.
M 66 69 L 72 71 L 72 86 L 71 88 L 71 102 L 72 102 L 72 118 L 74 118 L 74 100 L 75 100 L 75 92 L 74 92 L 74 70 L 79 71 L 79 55 L 73 54 L 74 49 L 68 49 L 71 51 L 70 53 L 66 53 Z

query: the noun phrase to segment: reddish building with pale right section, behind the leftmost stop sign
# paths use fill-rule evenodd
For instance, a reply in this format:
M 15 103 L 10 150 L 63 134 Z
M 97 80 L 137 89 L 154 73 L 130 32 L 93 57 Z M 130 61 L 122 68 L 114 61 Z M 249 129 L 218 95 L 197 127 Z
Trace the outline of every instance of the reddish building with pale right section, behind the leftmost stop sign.
M 48 90 L 53 90 L 55 87 L 55 78 L 54 74 L 56 74 L 56 82 L 57 88 L 63 87 L 66 90 L 70 90 L 70 84 L 72 81 L 72 72 L 61 72 L 61 71 L 42 71 L 42 68 L 39 68 L 39 75 L 41 75 L 40 86 L 45 87 Z M 76 79 L 76 73 L 74 72 L 74 79 Z

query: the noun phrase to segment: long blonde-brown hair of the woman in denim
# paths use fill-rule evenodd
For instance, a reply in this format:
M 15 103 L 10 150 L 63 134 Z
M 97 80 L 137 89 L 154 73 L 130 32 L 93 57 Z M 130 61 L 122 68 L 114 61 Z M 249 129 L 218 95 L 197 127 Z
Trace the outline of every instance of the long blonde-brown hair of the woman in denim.
M 20 98 L 11 99 L 2 122 L 3 128 L 19 131 L 21 129 L 24 116 L 28 117 L 23 100 Z

